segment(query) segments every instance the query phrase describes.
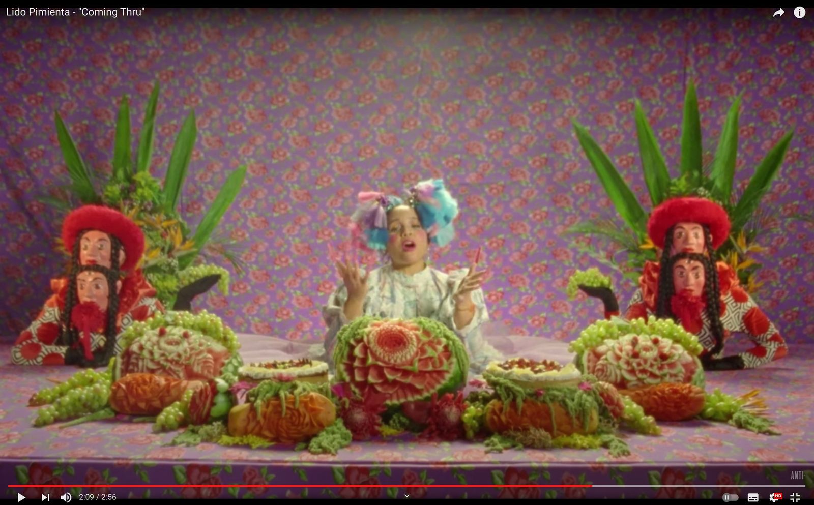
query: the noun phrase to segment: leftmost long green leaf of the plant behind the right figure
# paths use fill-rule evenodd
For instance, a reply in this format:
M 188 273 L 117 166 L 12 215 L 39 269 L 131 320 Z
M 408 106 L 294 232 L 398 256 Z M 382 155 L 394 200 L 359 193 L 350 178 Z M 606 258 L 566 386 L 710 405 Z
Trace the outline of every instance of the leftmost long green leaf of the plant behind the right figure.
M 613 163 L 607 157 L 597 141 L 593 140 L 590 133 L 574 120 L 576 137 L 580 140 L 580 145 L 585 151 L 594 172 L 597 172 L 599 180 L 602 181 L 608 198 L 614 203 L 616 211 L 622 216 L 625 223 L 637 233 L 639 237 L 646 234 L 646 215 L 641 205 L 632 193 L 628 185 L 616 171 Z

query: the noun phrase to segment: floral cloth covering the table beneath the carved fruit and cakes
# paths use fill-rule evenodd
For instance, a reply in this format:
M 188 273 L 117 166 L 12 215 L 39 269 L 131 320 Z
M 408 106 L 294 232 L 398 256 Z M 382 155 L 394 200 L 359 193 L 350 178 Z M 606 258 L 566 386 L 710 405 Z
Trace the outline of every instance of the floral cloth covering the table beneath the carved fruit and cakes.
M 303 346 L 278 339 L 241 336 L 247 360 L 303 355 Z M 568 359 L 566 345 L 541 337 L 505 337 L 501 346 L 513 355 Z M 814 346 L 794 346 L 790 356 L 756 370 L 714 372 L 709 388 L 741 394 L 759 389 L 772 408 L 781 436 L 757 435 L 727 424 L 701 421 L 662 423 L 661 437 L 629 434 L 632 454 L 612 458 L 605 450 L 505 451 L 486 453 L 470 442 L 416 442 L 409 437 L 354 442 L 338 455 L 311 455 L 293 446 L 264 450 L 202 444 L 167 446 L 172 433 L 155 434 L 150 424 L 109 420 L 33 428 L 28 397 L 48 385 L 49 378 L 67 378 L 63 367 L 24 368 L 9 362 L 9 347 L 0 346 L 0 479 L 28 498 L 41 493 L 59 496 L 83 493 L 186 498 L 374 498 L 470 497 L 745 497 L 771 492 L 814 490 L 791 487 L 814 477 Z M 807 473 L 805 473 L 807 472 Z M 807 479 L 804 479 L 807 475 Z M 122 484 L 155 485 L 118 488 Z M 204 488 L 171 488 L 198 484 Z M 281 487 L 216 487 L 231 484 Z M 591 488 L 495 487 L 495 485 L 575 485 Z M 298 487 L 313 485 L 316 487 Z M 383 487 L 331 487 L 381 485 Z M 455 485 L 457 487 L 433 487 Z M 484 487 L 475 487 L 484 485 Z M 597 487 L 625 485 L 626 487 Z M 771 487 L 755 487 L 755 486 Z M 50 486 L 50 487 L 45 487 Z

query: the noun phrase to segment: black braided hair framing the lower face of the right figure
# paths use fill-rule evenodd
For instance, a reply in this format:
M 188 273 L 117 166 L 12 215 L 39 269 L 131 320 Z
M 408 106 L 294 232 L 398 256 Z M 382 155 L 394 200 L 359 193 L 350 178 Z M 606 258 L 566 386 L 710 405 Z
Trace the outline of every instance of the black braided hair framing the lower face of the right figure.
M 710 330 L 712 337 L 715 338 L 715 346 L 709 351 L 710 356 L 717 355 L 724 347 L 724 324 L 720 320 L 720 284 L 718 282 L 718 271 L 716 263 L 714 263 L 709 256 L 699 255 L 697 253 L 678 253 L 674 255 L 669 262 L 668 270 L 659 272 L 659 306 L 663 303 L 662 298 L 667 299 L 666 311 L 663 315 L 656 314 L 657 317 L 669 317 L 676 320 L 672 314 L 669 300 L 675 294 L 675 286 L 672 282 L 672 268 L 681 259 L 689 259 L 691 261 L 698 261 L 704 267 L 704 299 L 707 301 L 706 314 L 710 322 Z M 669 278 L 669 282 L 662 282 L 663 279 Z M 662 291 L 662 286 L 668 291 Z M 664 297 L 663 297 L 664 295 Z

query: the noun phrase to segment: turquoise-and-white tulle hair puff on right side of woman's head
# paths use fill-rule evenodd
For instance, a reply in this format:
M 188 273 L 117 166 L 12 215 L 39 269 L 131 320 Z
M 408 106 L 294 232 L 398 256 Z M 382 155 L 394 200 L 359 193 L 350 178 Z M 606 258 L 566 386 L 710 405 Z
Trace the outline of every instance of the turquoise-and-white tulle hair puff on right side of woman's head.
M 427 230 L 430 242 L 446 246 L 455 237 L 453 221 L 458 214 L 457 200 L 444 187 L 442 179 L 421 181 L 409 189 L 409 206 L 413 207 Z

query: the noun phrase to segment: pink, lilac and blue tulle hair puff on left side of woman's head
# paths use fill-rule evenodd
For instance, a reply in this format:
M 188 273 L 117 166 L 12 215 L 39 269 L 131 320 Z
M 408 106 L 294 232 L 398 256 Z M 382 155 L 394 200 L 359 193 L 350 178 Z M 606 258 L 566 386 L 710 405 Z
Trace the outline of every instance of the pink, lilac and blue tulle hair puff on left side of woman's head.
M 363 250 L 387 248 L 387 211 L 402 203 L 401 198 L 387 196 L 377 191 L 362 191 L 358 197 L 359 207 L 351 215 L 351 240 Z

